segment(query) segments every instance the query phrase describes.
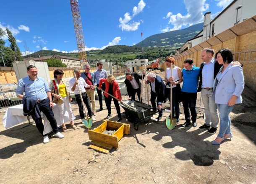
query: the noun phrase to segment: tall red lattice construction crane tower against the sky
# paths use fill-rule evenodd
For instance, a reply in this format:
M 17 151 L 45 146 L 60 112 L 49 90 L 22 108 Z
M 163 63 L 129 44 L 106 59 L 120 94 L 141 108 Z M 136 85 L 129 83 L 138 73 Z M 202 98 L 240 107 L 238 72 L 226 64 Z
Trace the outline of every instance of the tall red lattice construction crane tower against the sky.
M 78 0 L 70 0 L 71 12 L 73 16 L 73 22 L 76 33 L 76 43 L 78 49 L 78 55 L 80 60 L 80 65 L 83 67 L 84 64 L 87 64 L 87 56 L 84 46 L 84 35 L 81 23 L 81 17 L 79 12 Z

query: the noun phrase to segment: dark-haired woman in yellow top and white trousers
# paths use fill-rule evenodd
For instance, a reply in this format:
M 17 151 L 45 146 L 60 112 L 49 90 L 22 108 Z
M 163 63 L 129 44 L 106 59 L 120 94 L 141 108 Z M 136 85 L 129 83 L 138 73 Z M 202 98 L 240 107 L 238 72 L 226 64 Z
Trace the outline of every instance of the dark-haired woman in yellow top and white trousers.
M 74 116 L 71 109 L 70 102 L 72 101 L 72 97 L 70 96 L 70 93 L 68 91 L 68 85 L 66 83 L 66 80 L 62 79 L 63 74 L 64 72 L 62 70 L 60 69 L 55 70 L 53 73 L 55 79 L 51 80 L 49 87 L 51 91 L 55 89 L 55 91 L 57 92 L 57 94 L 52 92 L 52 96 L 59 100 L 57 102 L 57 108 L 60 113 L 59 120 L 62 123 L 63 132 L 67 132 L 68 130 L 65 126 L 64 115 L 63 115 L 64 105 L 65 105 L 65 109 L 68 111 L 69 121 L 71 123 L 72 128 L 76 128 L 76 125 L 74 124 L 74 120 L 76 119 L 76 117 Z

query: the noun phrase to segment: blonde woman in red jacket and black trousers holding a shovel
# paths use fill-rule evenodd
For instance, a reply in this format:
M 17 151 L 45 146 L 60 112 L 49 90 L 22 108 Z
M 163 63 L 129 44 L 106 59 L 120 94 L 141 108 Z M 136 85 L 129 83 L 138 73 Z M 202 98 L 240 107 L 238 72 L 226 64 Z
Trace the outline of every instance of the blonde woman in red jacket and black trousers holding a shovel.
M 119 85 L 115 81 L 115 77 L 113 75 L 110 74 L 110 75 L 107 76 L 107 79 L 100 79 L 99 80 L 100 90 L 101 90 L 101 87 L 102 87 L 102 82 L 104 82 L 106 84 L 105 92 L 108 92 L 110 95 L 113 95 L 114 97 L 118 98 L 119 100 L 122 100 Z M 111 100 L 112 100 L 113 97 L 111 97 L 110 95 L 108 95 L 107 93 L 104 93 L 104 96 L 106 98 L 107 111 L 108 111 L 107 119 L 112 116 L 111 115 Z M 118 113 L 118 121 L 121 121 L 122 118 L 121 118 L 121 112 L 120 112 L 120 107 L 119 107 L 119 104 L 118 104 L 118 100 L 113 98 L 113 101 L 114 101 L 114 104 L 115 104 L 116 111 Z

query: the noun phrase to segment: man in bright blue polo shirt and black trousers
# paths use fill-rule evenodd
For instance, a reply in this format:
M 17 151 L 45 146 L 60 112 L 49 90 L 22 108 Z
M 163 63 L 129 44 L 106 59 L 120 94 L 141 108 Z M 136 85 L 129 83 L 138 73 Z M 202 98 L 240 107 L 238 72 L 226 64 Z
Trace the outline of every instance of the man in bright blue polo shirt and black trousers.
M 196 95 L 197 95 L 197 84 L 199 81 L 199 67 L 194 66 L 194 61 L 192 58 L 187 58 L 184 60 L 182 69 L 183 75 L 183 86 L 181 89 L 182 104 L 185 114 L 185 123 L 183 127 L 191 125 L 191 120 L 193 127 L 196 127 Z M 191 111 L 191 120 L 190 113 Z

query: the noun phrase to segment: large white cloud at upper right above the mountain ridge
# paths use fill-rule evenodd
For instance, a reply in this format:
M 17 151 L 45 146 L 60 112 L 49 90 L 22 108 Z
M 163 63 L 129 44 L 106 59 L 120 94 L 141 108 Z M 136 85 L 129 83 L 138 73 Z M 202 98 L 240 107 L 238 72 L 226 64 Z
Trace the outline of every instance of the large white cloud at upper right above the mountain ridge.
M 182 15 L 178 13 L 173 15 L 172 12 L 168 12 L 166 19 L 169 19 L 168 24 L 171 26 L 166 26 L 162 29 L 162 32 L 174 31 L 180 29 L 182 26 L 188 26 L 203 22 L 204 16 L 203 11 L 209 9 L 209 4 L 205 3 L 206 0 L 184 0 L 185 8 L 187 9 L 187 15 Z M 198 8 L 195 8 L 195 4 Z

